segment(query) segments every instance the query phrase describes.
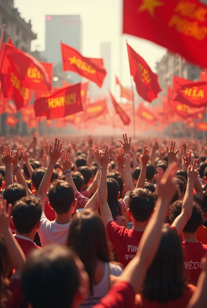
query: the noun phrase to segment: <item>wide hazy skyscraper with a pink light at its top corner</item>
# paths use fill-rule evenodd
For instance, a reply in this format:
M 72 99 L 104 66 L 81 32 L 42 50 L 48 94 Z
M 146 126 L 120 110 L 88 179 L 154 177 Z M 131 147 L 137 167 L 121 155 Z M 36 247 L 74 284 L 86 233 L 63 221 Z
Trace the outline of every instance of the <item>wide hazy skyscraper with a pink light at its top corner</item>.
M 60 42 L 82 53 L 82 21 L 79 15 L 46 15 L 45 51 L 43 56 L 48 62 L 57 65 L 62 62 Z M 81 77 L 68 73 L 68 82 L 80 82 Z

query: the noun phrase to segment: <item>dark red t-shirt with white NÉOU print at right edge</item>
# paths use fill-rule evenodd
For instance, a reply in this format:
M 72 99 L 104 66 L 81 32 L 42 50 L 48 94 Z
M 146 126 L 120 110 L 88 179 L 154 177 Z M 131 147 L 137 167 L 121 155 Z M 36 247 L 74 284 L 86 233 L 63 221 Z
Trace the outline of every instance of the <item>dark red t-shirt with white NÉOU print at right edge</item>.
M 188 281 L 193 285 L 197 284 L 199 275 L 201 274 L 201 259 L 207 253 L 207 245 L 196 242 L 183 242 L 184 249 L 184 269 L 187 274 Z

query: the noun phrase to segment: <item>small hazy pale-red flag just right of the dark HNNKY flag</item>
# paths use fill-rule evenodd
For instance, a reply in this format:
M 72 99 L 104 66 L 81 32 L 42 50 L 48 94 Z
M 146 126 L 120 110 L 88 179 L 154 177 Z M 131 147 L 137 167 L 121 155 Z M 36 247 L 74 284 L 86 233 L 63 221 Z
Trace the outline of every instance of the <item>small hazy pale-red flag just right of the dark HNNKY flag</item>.
M 100 115 L 108 113 L 107 100 L 103 99 L 98 102 L 84 106 L 84 121 L 97 118 Z

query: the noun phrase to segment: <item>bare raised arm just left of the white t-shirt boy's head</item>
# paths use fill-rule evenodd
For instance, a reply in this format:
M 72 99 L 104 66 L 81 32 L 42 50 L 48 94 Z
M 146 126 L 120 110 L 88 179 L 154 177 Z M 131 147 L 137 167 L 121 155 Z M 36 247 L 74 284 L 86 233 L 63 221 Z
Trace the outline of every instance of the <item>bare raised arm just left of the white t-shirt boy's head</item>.
M 43 176 L 42 182 L 39 186 L 39 191 L 37 195 L 37 197 L 41 200 L 43 212 L 45 209 L 45 199 L 46 199 L 47 189 L 50 185 L 52 172 L 55 168 L 55 164 L 59 160 L 63 151 L 64 150 L 62 150 L 62 142 L 60 143 L 60 140 L 56 137 L 54 149 L 52 149 L 52 145 L 50 144 L 50 149 L 49 149 L 50 162 Z

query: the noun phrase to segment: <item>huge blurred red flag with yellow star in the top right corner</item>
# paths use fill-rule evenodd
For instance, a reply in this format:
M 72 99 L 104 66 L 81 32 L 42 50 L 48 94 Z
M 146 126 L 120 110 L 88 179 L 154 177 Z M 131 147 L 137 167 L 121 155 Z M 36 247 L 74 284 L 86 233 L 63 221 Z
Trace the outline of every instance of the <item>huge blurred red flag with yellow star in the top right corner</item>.
M 123 33 L 152 41 L 207 67 L 206 10 L 197 0 L 124 0 Z

